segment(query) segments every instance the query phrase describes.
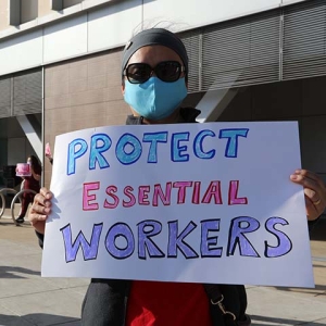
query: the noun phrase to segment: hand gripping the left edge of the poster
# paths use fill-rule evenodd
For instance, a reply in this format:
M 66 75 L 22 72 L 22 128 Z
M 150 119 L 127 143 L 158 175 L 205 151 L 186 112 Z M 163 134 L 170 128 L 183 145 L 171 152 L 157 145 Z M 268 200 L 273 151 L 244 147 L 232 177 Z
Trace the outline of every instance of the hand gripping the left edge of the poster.
M 46 220 L 51 213 L 51 199 L 52 192 L 47 188 L 41 188 L 39 193 L 35 195 L 33 205 L 28 212 L 28 221 L 42 235 L 46 229 Z

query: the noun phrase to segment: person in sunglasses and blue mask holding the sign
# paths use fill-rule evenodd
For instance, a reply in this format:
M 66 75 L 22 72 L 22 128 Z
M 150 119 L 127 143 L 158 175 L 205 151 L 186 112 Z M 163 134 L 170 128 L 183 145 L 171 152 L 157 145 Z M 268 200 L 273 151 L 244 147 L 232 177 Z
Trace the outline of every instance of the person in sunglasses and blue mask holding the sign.
M 188 57 L 175 34 L 152 28 L 134 36 L 122 62 L 122 91 L 133 113 L 127 124 L 196 123 L 200 112 L 179 106 L 187 96 L 187 83 Z M 306 215 L 315 221 L 326 204 L 324 184 L 304 170 L 293 172 L 290 178 L 304 187 Z M 42 188 L 28 215 L 41 241 L 51 199 L 52 193 Z M 250 325 L 246 308 L 243 286 L 92 279 L 83 304 L 82 325 Z

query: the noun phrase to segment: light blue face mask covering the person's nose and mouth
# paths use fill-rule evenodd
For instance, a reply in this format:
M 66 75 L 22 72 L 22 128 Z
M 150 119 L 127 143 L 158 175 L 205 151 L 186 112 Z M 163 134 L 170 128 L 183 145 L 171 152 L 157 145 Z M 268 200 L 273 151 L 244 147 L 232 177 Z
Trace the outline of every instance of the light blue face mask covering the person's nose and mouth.
M 165 83 L 156 77 L 142 84 L 125 80 L 125 101 L 141 116 L 161 120 L 171 115 L 187 96 L 185 78 Z

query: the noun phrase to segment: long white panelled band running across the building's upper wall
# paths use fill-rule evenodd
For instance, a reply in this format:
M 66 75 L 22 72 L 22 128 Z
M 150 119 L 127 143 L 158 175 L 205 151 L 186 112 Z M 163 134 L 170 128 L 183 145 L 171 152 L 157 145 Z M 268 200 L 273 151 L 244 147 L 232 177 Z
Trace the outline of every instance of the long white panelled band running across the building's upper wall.
M 181 32 L 298 1 L 304 0 L 121 0 L 95 9 L 104 1 L 88 0 L 0 38 L 0 76 L 123 46 L 142 24 L 167 21 Z

